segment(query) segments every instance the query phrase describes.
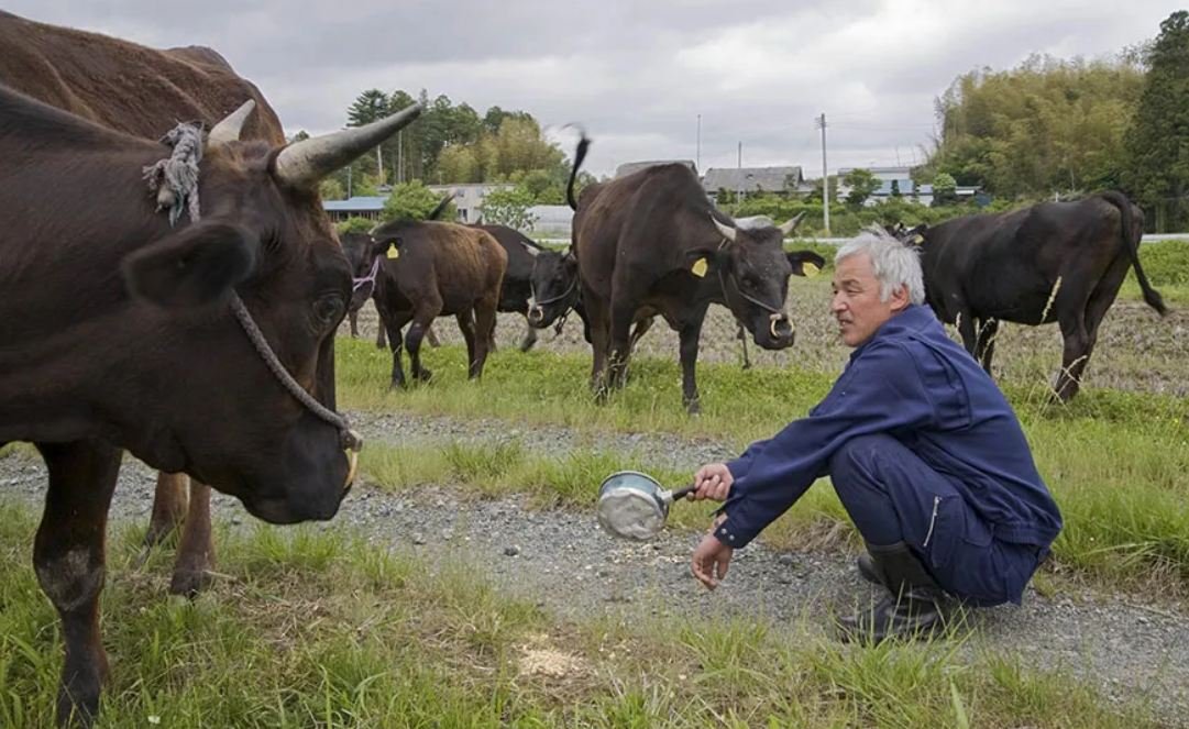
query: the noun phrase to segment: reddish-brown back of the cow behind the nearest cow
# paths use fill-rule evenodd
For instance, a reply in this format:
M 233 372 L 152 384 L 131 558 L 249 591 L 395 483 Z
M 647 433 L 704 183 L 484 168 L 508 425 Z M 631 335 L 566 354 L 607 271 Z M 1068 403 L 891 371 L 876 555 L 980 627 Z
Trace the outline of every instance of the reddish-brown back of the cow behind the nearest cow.
M 0 14 L 0 48 L 5 84 L 109 128 L 155 139 L 178 121 L 209 127 L 252 99 L 243 138 L 284 143 L 260 92 L 210 49 L 157 50 L 11 14 Z

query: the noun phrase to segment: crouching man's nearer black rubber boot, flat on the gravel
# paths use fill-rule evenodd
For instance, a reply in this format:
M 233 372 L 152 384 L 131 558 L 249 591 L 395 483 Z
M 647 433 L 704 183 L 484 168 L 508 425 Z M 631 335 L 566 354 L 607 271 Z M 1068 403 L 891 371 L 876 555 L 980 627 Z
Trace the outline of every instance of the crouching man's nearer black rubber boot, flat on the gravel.
M 889 595 L 869 610 L 838 618 L 839 637 L 848 642 L 877 643 L 944 627 L 950 599 L 908 545 L 868 545 L 868 549 L 873 577 L 888 587 Z

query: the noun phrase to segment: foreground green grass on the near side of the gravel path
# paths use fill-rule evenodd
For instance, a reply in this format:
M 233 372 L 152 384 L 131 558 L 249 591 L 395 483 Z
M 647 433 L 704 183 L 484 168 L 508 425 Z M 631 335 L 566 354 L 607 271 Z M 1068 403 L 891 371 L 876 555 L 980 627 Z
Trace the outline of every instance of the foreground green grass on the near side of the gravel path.
M 29 548 L 34 515 L 0 503 L 0 725 L 52 725 L 57 617 Z M 430 567 L 338 530 L 218 534 L 227 576 L 164 593 L 168 555 L 109 549 L 96 727 L 1119 727 L 1137 703 L 963 636 L 876 648 L 754 618 L 558 622 L 477 565 Z

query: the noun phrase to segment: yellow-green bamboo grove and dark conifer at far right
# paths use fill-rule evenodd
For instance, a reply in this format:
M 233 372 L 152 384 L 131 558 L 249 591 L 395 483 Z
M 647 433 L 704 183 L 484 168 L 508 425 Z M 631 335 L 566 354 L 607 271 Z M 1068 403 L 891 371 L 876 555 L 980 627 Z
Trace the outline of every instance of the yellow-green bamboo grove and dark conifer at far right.
M 923 180 L 951 176 L 1017 202 L 1120 189 L 1153 230 L 1189 228 L 1189 13 L 1114 58 L 1032 56 L 958 76 Z

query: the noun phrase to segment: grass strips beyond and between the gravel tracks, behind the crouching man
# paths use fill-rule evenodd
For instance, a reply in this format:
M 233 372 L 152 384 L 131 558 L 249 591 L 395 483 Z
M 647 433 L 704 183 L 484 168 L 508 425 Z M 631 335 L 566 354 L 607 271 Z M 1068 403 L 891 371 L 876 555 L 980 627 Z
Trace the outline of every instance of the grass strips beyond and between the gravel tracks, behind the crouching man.
M 828 391 L 824 372 L 703 365 L 704 414 L 690 417 L 680 401 L 677 363 L 641 359 L 623 392 L 599 406 L 585 387 L 586 358 L 552 352 L 501 353 L 482 383 L 467 382 L 463 352 L 432 354 L 436 382 L 389 392 L 390 356 L 359 341 L 339 342 L 340 403 L 353 409 L 403 410 L 459 417 L 565 425 L 585 432 L 667 432 L 713 438 L 742 450 L 804 415 Z M 1112 585 L 1189 592 L 1189 404 L 1183 400 L 1086 390 L 1053 406 L 1044 385 L 1005 388 L 1024 425 L 1042 475 L 1065 519 L 1053 553 L 1058 570 Z M 638 469 L 679 486 L 691 473 L 665 471 L 647 453 L 578 451 L 560 458 L 516 446 L 452 445 L 394 450 L 371 444 L 363 466 L 378 483 L 400 486 L 447 480 L 482 494 L 529 492 L 541 503 L 589 508 L 602 478 Z M 691 513 L 688 517 L 679 516 Z M 674 509 L 678 524 L 699 527 L 705 509 Z M 687 522 L 686 519 L 693 521 Z M 854 540 L 842 505 L 818 484 L 765 532 L 776 547 L 813 547 Z

